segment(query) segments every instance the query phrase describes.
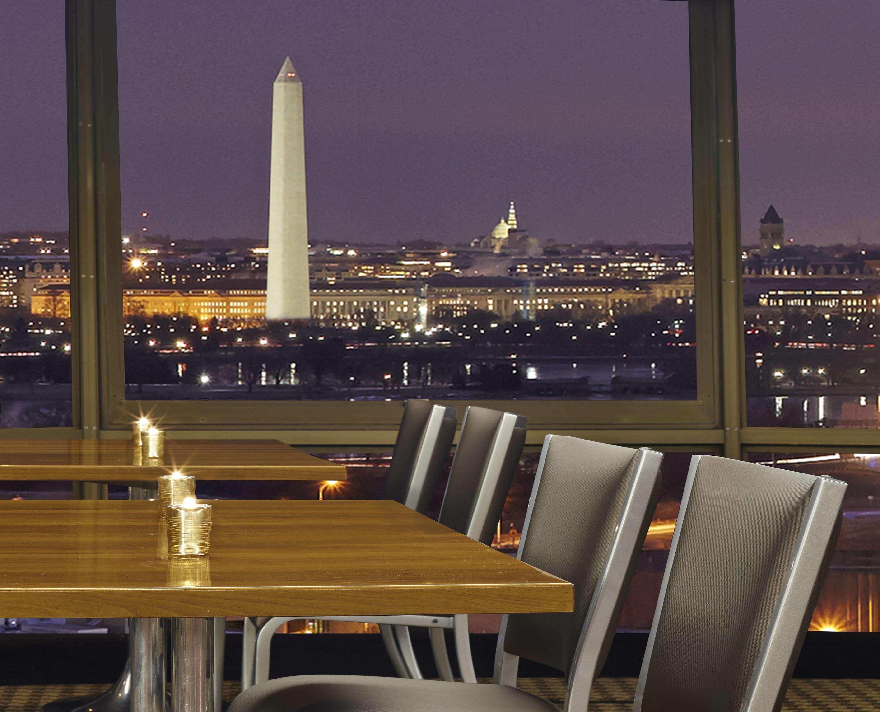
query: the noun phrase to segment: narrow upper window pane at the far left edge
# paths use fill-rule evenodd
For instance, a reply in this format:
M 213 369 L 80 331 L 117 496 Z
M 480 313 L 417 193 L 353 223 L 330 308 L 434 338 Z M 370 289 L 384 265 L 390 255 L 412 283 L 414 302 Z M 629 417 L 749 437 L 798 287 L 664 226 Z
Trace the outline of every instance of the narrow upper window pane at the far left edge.
M 0 428 L 70 426 L 62 4 L 0 10 Z

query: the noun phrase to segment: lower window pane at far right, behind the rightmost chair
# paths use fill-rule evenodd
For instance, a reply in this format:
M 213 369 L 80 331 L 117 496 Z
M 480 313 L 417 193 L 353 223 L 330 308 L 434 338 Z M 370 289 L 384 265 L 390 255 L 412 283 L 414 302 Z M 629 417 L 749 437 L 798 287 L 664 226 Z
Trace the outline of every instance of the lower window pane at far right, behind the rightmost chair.
M 810 630 L 880 632 L 880 453 L 760 452 L 749 459 L 847 483 L 840 540 Z

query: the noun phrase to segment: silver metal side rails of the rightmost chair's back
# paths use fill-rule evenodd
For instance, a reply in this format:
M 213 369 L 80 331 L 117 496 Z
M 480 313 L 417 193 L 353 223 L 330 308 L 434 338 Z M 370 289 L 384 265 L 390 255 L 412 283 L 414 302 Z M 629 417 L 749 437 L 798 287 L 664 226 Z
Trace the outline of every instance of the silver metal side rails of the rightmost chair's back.
M 642 700 L 648 680 L 651 655 L 654 651 L 656 631 L 663 615 L 667 585 L 678 549 L 678 538 L 686 522 L 687 505 L 691 498 L 700 459 L 702 459 L 700 455 L 693 456 L 687 473 L 685 491 L 678 510 L 678 522 L 672 534 L 669 559 L 648 637 L 648 648 L 642 660 L 642 671 L 635 688 L 634 712 L 642 712 Z M 827 569 L 825 561 L 828 550 L 827 532 L 833 531 L 838 525 L 846 490 L 845 482 L 835 480 L 828 475 L 818 476 L 812 486 L 810 501 L 807 503 L 798 532 L 791 569 L 782 585 L 773 618 L 767 628 L 749 686 L 746 688 L 744 703 L 740 708 L 742 712 L 765 712 L 781 707 L 788 679 L 791 678 L 806 633 L 807 626 L 804 625 L 803 612 L 811 611 L 815 604 L 814 598 L 818 595 L 817 584 L 822 579 L 824 569 Z

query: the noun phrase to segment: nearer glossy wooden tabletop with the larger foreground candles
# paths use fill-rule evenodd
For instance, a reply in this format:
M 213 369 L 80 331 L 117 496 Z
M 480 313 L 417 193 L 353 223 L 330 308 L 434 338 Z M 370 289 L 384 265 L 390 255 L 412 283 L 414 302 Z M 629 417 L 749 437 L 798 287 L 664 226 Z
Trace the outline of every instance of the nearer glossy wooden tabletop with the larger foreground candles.
M 211 502 L 210 554 L 163 558 L 158 503 L 0 502 L 18 618 L 526 613 L 573 587 L 390 501 Z

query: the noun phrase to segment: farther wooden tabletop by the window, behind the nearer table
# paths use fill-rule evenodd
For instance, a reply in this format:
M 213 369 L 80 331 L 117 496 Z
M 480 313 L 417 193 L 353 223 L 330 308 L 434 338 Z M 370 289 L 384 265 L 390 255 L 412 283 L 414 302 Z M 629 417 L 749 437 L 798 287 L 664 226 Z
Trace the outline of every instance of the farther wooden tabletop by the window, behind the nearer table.
M 149 481 L 179 470 L 202 480 L 344 480 L 345 466 L 279 440 L 166 440 L 158 466 L 130 440 L 0 439 L 0 480 Z

